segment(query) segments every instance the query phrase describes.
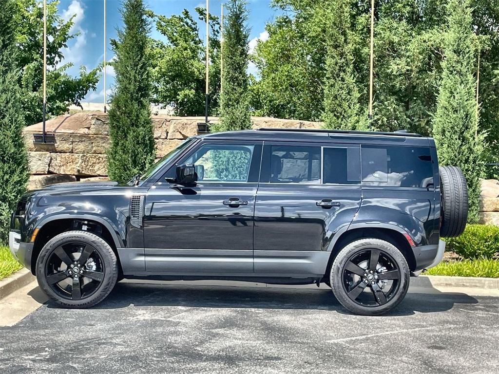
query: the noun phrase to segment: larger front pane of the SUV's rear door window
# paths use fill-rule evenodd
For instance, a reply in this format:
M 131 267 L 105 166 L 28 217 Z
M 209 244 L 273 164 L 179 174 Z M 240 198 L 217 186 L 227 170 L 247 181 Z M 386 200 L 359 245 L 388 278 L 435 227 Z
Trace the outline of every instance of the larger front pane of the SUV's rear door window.
M 271 146 L 270 182 L 320 184 L 320 147 Z

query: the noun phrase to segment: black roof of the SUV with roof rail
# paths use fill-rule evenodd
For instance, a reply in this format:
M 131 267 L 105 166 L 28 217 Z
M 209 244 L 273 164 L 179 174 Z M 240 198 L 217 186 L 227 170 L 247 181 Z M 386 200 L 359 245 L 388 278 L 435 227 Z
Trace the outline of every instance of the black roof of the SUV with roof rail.
M 433 145 L 433 140 L 419 134 L 377 131 L 341 131 L 326 129 L 258 129 L 200 135 L 203 139 L 301 141 L 308 143 L 400 144 L 408 146 Z

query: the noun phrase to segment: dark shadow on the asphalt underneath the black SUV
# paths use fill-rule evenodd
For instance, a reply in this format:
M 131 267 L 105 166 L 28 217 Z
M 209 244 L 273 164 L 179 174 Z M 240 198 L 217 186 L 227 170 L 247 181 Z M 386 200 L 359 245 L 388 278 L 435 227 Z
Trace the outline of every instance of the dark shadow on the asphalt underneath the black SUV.
M 238 282 L 228 285 L 161 283 L 116 284 L 109 296 L 95 309 L 140 306 L 182 306 L 197 308 L 260 308 L 328 310 L 350 314 L 328 288 L 289 288 L 261 285 L 248 287 Z M 418 289 L 419 290 L 419 289 Z M 452 309 L 456 304 L 477 304 L 478 300 L 464 293 L 440 292 L 435 288 L 409 292 L 404 301 L 385 316 L 413 315 L 415 312 L 435 313 Z M 49 308 L 57 305 L 49 302 Z

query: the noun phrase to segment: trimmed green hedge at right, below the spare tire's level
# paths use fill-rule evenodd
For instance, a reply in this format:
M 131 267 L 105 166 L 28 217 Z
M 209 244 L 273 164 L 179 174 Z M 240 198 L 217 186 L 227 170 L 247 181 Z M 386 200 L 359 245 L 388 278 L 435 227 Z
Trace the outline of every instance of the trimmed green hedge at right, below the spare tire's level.
M 460 236 L 445 242 L 446 250 L 464 258 L 498 258 L 499 226 L 469 224 Z

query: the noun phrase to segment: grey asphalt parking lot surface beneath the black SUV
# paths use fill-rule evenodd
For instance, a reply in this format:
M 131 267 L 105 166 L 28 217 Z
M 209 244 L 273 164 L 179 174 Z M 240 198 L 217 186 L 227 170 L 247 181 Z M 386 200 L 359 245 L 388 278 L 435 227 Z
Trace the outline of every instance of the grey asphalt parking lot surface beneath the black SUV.
M 499 373 L 499 299 L 411 292 L 348 314 L 330 290 L 119 283 L 0 328 L 0 373 Z

